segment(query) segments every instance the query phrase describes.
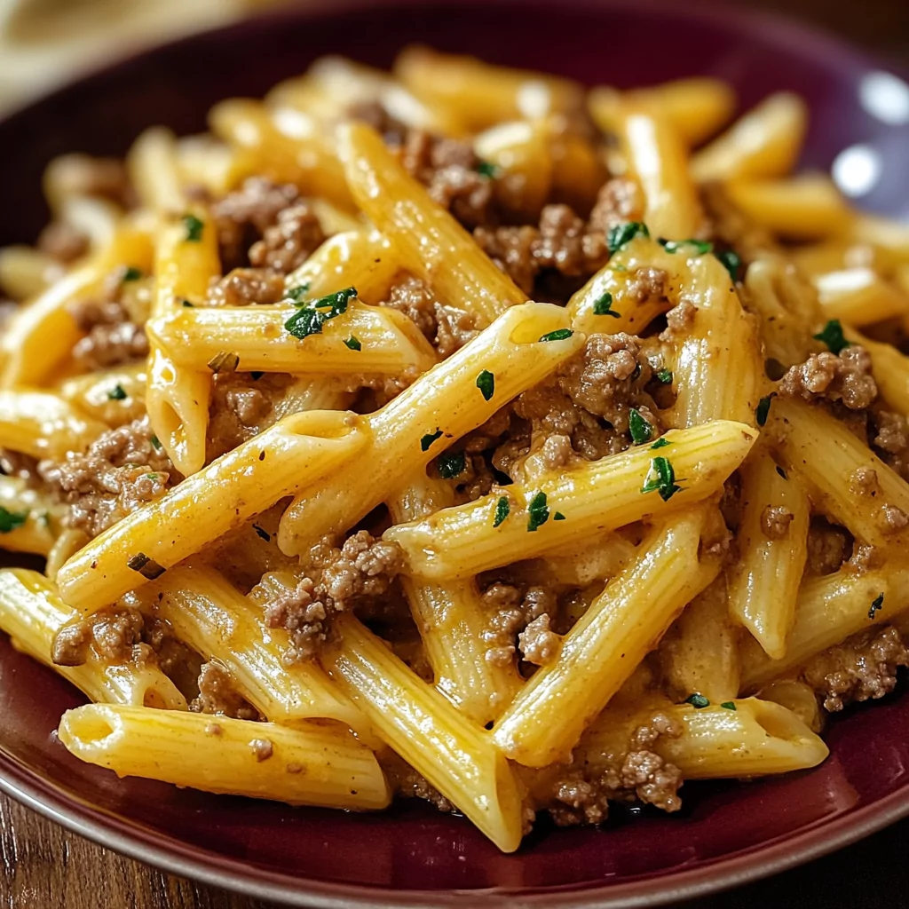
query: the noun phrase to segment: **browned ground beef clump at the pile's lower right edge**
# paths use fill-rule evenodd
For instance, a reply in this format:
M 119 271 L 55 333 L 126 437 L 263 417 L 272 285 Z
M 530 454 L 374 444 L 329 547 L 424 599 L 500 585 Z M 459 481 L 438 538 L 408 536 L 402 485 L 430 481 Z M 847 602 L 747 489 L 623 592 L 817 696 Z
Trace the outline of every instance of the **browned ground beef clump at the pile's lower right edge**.
M 893 627 L 854 634 L 815 656 L 803 670 L 805 682 L 822 698 L 824 710 L 884 697 L 894 690 L 896 669 L 909 665 L 909 650 Z

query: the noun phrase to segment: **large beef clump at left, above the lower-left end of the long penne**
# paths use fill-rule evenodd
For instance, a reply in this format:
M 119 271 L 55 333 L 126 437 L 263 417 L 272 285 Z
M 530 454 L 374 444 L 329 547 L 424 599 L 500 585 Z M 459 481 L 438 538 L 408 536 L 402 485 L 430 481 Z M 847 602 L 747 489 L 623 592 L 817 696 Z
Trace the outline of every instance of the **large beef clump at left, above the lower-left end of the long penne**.
M 42 479 L 69 505 L 65 525 L 97 536 L 164 495 L 174 465 L 152 439 L 143 418 L 108 430 L 85 454 L 68 452 L 64 461 L 40 462 Z

